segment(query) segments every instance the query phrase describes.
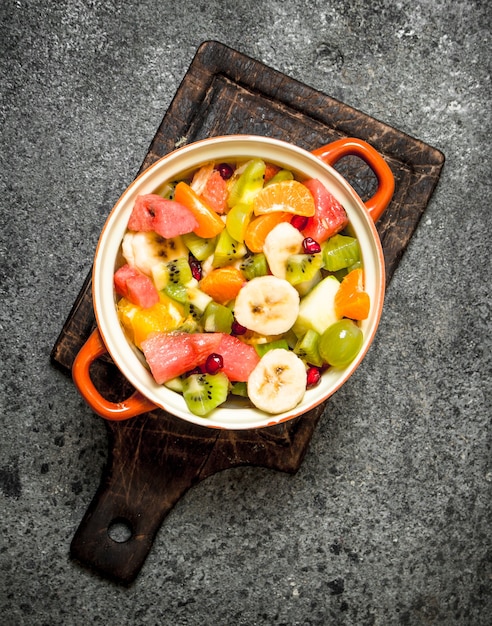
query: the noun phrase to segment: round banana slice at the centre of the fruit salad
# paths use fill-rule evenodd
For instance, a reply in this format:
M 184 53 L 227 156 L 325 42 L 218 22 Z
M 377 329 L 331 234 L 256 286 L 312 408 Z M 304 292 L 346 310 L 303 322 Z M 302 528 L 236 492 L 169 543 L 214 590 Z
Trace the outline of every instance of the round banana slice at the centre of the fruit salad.
M 257 276 L 239 291 L 234 305 L 236 320 L 261 335 L 287 332 L 299 314 L 299 293 L 276 276 Z

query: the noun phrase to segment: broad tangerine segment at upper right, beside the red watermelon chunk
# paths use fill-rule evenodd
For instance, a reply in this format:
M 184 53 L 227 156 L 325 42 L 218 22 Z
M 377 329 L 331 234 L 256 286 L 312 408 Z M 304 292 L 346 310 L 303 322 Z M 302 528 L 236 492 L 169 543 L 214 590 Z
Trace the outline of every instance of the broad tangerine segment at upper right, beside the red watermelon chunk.
M 297 180 L 282 180 L 264 187 L 255 196 L 253 203 L 255 215 L 285 211 L 311 217 L 315 209 L 311 192 Z

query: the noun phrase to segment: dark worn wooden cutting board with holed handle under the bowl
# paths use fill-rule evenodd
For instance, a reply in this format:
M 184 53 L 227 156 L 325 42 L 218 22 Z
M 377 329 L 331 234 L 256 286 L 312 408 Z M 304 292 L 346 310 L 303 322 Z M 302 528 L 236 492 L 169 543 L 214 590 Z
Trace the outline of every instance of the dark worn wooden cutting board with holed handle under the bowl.
M 209 41 L 198 49 L 138 173 L 180 145 L 237 133 L 276 137 L 308 150 L 349 136 L 374 146 L 396 182 L 393 200 L 377 224 L 389 283 L 439 180 L 444 165 L 439 150 Z M 374 191 L 374 175 L 362 160 L 346 157 L 336 169 L 362 199 Z M 52 363 L 70 373 L 94 325 L 89 272 L 53 347 Z M 92 376 L 113 400 L 132 391 L 108 358 L 94 365 Z M 270 428 L 230 432 L 187 424 L 161 410 L 107 422 L 108 462 L 72 540 L 73 558 L 102 576 L 131 583 L 164 518 L 191 486 L 239 465 L 294 473 L 323 410 L 322 405 Z M 114 522 L 131 530 L 128 540 L 109 536 Z

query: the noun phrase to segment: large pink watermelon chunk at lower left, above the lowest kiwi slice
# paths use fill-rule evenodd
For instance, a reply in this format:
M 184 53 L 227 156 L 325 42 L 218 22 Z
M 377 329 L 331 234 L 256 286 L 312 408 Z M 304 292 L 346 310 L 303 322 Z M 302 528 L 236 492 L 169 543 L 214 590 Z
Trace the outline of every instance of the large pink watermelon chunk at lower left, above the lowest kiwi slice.
M 157 333 L 142 342 L 142 350 L 157 384 L 181 376 L 217 352 L 220 333 Z

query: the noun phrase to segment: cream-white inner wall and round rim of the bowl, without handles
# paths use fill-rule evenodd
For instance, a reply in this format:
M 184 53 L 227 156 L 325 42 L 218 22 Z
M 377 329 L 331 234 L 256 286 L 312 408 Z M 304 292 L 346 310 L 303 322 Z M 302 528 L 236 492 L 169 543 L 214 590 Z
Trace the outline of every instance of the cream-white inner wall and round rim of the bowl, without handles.
M 241 400 L 228 401 L 208 417 L 189 412 L 183 397 L 158 385 L 149 372 L 141 353 L 131 345 L 119 323 L 115 307 L 113 273 L 135 199 L 153 193 L 165 181 L 194 170 L 208 161 L 262 157 L 291 169 L 301 179 L 318 178 L 345 207 L 351 228 L 359 240 L 365 268 L 366 291 L 371 298 L 368 319 L 361 323 L 363 347 L 346 368 L 330 368 L 321 383 L 306 391 L 303 402 L 294 410 L 278 415 L 266 414 Z M 159 407 L 201 426 L 229 429 L 260 428 L 277 424 L 314 408 L 331 396 L 358 367 L 379 323 L 384 297 L 384 261 L 377 231 L 361 200 L 333 168 L 309 152 L 283 141 L 257 136 L 226 136 L 190 144 L 163 157 L 145 170 L 126 189 L 114 206 L 99 239 L 93 270 L 93 299 L 97 324 L 114 362 L 127 380 Z

